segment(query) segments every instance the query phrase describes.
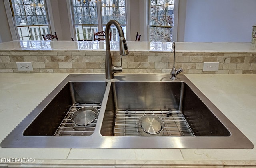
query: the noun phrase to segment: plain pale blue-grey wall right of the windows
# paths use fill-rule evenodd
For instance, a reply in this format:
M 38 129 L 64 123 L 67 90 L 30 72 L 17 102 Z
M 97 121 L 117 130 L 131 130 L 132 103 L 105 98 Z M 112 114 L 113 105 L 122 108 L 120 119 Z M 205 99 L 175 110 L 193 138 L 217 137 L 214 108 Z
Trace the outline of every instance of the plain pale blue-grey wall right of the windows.
M 250 42 L 256 0 L 187 0 L 184 41 Z

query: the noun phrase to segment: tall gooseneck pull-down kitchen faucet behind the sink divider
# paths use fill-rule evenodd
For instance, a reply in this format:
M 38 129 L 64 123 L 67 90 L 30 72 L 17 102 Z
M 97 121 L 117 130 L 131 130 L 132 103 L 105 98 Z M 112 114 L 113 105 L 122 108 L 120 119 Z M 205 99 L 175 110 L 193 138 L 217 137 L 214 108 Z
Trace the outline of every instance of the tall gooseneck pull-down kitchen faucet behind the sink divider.
M 124 38 L 124 32 L 122 30 L 121 25 L 116 21 L 116 20 L 110 20 L 105 28 L 105 33 L 106 33 L 106 60 L 105 60 L 105 71 L 106 71 L 106 79 L 113 79 L 114 78 L 114 73 L 116 72 L 122 72 L 122 57 L 121 59 L 121 66 L 114 66 L 112 62 L 112 56 L 110 52 L 110 42 L 109 42 L 109 29 L 110 26 L 114 24 L 118 30 L 119 34 L 119 51 L 120 55 L 127 55 L 129 54 L 128 47 L 126 44 L 126 40 Z

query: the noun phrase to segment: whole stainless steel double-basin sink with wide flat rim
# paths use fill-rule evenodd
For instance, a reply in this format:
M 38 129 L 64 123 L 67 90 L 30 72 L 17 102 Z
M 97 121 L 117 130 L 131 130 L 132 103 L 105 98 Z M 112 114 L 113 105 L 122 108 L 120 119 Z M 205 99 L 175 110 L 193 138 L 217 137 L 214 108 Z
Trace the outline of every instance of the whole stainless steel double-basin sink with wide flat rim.
M 84 106 L 98 110 L 85 126 Z M 160 118 L 154 134 L 140 123 Z M 155 119 L 155 118 L 153 118 Z M 152 125 L 150 125 L 152 127 Z M 186 76 L 70 74 L 2 142 L 4 148 L 254 148 Z

